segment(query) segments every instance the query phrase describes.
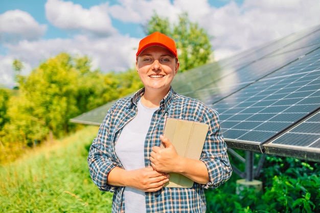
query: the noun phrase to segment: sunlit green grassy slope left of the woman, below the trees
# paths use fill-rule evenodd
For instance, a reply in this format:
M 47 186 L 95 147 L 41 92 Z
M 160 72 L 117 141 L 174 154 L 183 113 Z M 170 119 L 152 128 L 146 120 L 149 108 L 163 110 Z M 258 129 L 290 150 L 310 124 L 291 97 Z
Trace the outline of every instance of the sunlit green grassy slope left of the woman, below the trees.
M 88 126 L 0 166 L 1 212 L 111 212 L 112 194 L 92 182 L 87 149 L 98 127 Z

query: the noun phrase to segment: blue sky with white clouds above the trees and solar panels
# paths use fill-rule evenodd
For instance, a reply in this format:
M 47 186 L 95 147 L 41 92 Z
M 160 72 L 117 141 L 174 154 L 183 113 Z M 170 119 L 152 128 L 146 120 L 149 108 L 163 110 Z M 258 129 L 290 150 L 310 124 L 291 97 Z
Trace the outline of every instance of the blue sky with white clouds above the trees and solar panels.
M 89 56 L 103 72 L 124 71 L 153 11 L 170 22 L 188 12 L 214 36 L 215 60 L 320 24 L 318 0 L 0 0 L 0 85 L 14 85 L 14 59 L 28 75 L 62 51 Z

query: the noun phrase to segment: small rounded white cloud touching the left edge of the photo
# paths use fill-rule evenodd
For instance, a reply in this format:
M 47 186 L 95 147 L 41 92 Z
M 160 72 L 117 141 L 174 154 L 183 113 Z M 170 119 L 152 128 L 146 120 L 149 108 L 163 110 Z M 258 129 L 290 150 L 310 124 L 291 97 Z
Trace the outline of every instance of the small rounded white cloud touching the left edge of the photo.
M 21 39 L 40 38 L 47 26 L 39 23 L 27 12 L 9 10 L 0 14 L 0 43 L 12 43 Z

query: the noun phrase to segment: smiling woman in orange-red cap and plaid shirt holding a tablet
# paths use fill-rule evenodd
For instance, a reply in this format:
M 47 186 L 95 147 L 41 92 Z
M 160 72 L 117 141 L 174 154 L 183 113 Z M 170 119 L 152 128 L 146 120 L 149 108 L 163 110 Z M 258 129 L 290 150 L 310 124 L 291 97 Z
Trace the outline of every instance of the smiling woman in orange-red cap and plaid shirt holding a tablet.
M 112 212 L 205 212 L 204 189 L 218 187 L 232 174 L 218 113 L 173 91 L 178 68 L 170 37 L 155 32 L 142 39 L 136 69 L 144 88 L 108 110 L 90 147 L 90 176 L 100 190 L 115 193 Z M 162 135 L 169 117 L 209 125 L 200 160 L 178 155 Z M 171 172 L 194 185 L 164 187 Z

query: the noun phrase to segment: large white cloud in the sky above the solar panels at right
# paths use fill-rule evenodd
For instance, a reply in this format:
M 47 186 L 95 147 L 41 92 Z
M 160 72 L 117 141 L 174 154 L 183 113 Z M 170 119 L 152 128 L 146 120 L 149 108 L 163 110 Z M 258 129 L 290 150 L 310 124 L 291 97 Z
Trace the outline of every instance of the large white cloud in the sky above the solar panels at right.
M 231 2 L 212 8 L 201 26 L 215 36 L 215 56 L 222 59 L 319 25 L 319 11 L 317 0 L 246 0 L 242 6 Z

